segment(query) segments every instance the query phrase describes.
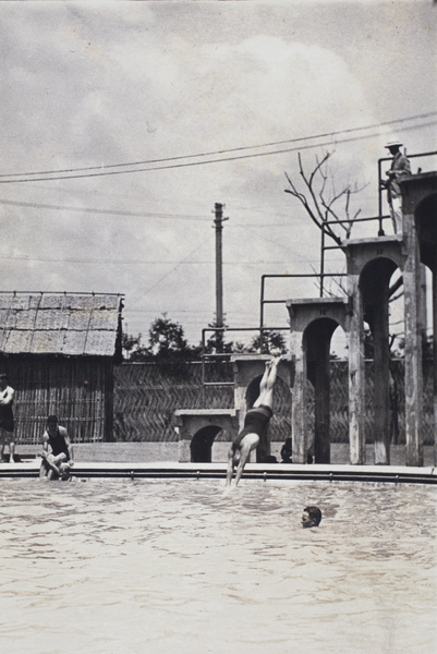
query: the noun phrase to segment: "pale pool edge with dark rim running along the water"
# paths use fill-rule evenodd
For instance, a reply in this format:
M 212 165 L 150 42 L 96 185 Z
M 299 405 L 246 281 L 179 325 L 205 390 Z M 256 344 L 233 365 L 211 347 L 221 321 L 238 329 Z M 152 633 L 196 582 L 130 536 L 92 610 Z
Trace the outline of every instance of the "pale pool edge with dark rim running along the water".
M 40 459 L 19 463 L 0 463 L 0 479 L 38 477 Z M 222 479 L 226 463 L 178 462 L 76 462 L 73 475 L 82 479 Z M 294 463 L 248 463 L 243 476 L 252 480 L 277 481 L 348 481 L 437 484 L 436 468 L 397 465 L 299 465 Z

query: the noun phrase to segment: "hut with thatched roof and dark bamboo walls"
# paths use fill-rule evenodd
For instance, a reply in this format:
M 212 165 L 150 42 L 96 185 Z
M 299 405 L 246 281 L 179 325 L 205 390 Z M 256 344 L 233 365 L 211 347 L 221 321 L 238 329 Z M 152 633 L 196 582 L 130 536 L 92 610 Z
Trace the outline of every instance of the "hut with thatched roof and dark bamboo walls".
M 0 293 L 0 365 L 16 391 L 16 437 L 40 438 L 54 413 L 74 440 L 112 439 L 122 295 Z

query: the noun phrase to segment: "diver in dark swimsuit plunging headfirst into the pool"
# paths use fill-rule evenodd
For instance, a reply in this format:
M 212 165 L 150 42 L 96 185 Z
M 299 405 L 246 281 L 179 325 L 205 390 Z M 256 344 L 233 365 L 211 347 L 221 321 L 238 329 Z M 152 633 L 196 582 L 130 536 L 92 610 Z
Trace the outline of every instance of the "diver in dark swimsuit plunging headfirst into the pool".
M 274 415 L 274 386 L 281 356 L 266 362 L 266 370 L 259 384 L 259 396 L 244 417 L 243 429 L 233 439 L 228 452 L 228 471 L 226 485 L 231 485 L 236 467 L 235 486 L 240 482 L 251 452 L 258 447 L 259 439 L 266 434 L 268 423 Z

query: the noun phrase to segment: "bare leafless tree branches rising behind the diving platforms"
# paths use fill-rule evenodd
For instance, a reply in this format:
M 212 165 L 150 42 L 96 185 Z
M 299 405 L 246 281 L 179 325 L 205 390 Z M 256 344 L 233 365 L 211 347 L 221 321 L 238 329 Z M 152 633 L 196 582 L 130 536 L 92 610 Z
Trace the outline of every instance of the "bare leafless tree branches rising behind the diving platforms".
M 332 223 L 343 230 L 343 238 L 350 238 L 353 221 L 356 220 L 361 211 L 361 209 L 359 209 L 353 216 L 351 216 L 351 196 L 362 191 L 364 186 L 357 187 L 356 185 L 351 186 L 348 184 L 342 187 L 340 192 L 336 192 L 335 184 L 331 181 L 330 193 L 328 197 L 328 159 L 331 156 L 332 153 L 326 153 L 321 159 L 316 157 L 316 167 L 308 175 L 303 169 L 302 157 L 299 153 L 299 171 L 305 183 L 305 192 L 301 193 L 286 172 L 287 180 L 290 184 L 290 189 L 286 189 L 286 193 L 290 193 L 296 197 L 305 208 L 313 222 L 315 222 L 315 225 L 317 225 L 317 227 L 325 234 L 330 237 L 337 243 L 337 245 L 340 245 L 342 239 L 336 233 L 335 229 L 332 228 Z M 335 208 L 335 204 L 340 199 L 343 199 L 343 217 L 340 217 L 339 213 L 337 211 L 337 206 Z

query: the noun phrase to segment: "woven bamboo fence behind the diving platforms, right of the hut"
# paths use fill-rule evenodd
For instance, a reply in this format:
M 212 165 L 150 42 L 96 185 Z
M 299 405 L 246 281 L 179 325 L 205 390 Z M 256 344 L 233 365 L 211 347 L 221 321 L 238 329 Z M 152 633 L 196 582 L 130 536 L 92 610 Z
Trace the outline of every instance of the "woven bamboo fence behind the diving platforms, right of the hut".
M 405 443 L 403 362 L 392 362 L 390 385 L 391 440 Z M 367 443 L 374 440 L 373 364 L 366 363 L 366 412 L 364 416 Z M 434 444 L 432 364 L 424 365 L 424 444 Z M 177 409 L 229 409 L 233 407 L 232 387 L 207 387 L 202 384 L 201 363 L 177 368 L 157 364 L 123 364 L 116 368 L 114 440 L 174 441 Z M 232 379 L 229 364 L 214 364 L 206 371 L 208 382 Z M 314 434 L 314 391 L 308 385 L 308 438 Z M 331 362 L 330 377 L 331 441 L 349 440 L 348 363 Z M 275 390 L 275 415 L 270 423 L 270 439 L 282 441 L 291 433 L 291 396 L 282 380 Z M 220 436 L 217 437 L 221 439 Z

